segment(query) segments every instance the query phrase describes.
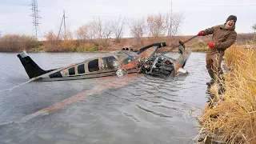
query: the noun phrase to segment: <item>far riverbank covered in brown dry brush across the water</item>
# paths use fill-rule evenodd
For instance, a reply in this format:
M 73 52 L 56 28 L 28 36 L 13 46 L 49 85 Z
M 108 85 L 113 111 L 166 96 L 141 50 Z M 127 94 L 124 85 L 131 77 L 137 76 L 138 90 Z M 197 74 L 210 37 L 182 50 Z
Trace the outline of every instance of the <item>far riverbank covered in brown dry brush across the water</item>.
M 135 38 L 121 38 L 118 42 L 115 38 L 107 38 L 104 41 L 92 41 L 87 40 L 45 40 L 38 41 L 32 36 L 10 34 L 0 38 L 0 52 L 21 52 L 26 50 L 28 52 L 107 52 L 112 50 L 129 49 L 138 51 L 144 46 L 151 45 L 157 42 L 167 42 L 170 46 L 162 49 L 170 50 L 178 46 L 178 42 L 185 42 L 193 36 L 174 36 L 174 37 L 160 37 L 160 38 L 142 38 L 141 42 L 136 42 Z M 236 45 L 252 45 L 252 42 L 248 43 L 248 39 L 254 38 L 254 34 L 238 34 Z M 211 36 L 197 37 L 190 42 L 186 42 L 186 47 L 190 47 L 192 51 L 206 51 L 209 47 L 207 42 L 211 41 Z

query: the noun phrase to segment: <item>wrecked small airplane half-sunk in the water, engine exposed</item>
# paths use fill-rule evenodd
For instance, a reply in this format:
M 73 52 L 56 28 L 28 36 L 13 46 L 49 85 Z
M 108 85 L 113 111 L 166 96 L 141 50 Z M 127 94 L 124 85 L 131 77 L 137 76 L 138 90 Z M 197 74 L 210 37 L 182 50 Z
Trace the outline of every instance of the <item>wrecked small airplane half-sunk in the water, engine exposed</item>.
M 25 51 L 17 56 L 22 62 L 26 74 L 30 77 L 30 81 L 60 81 L 113 75 L 120 77 L 130 73 L 175 76 L 178 70 L 185 66 L 186 60 L 190 56 L 190 49 L 179 46 L 178 56 L 173 58 L 168 55 L 169 53 L 156 54 L 158 49 L 163 46 L 166 46 L 166 42 L 143 47 L 138 53 L 120 50 L 54 70 L 42 70 Z

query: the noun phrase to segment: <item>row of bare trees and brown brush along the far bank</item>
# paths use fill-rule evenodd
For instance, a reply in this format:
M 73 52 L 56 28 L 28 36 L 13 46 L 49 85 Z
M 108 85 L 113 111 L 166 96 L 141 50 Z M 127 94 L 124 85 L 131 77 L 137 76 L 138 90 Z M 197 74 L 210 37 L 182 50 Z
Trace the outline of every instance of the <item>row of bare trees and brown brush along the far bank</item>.
M 77 30 L 66 30 L 64 34 L 50 30 L 44 34 L 44 41 L 26 35 L 7 34 L 0 38 L 0 51 L 40 49 L 44 51 L 94 51 L 111 49 L 111 46 L 139 48 L 165 37 L 169 41 L 178 34 L 183 14 L 150 14 L 137 19 L 122 18 L 106 20 L 94 18 L 79 26 Z M 125 31 L 130 30 L 129 41 L 122 42 Z M 129 43 L 129 44 L 127 44 Z

